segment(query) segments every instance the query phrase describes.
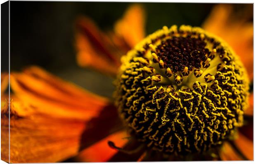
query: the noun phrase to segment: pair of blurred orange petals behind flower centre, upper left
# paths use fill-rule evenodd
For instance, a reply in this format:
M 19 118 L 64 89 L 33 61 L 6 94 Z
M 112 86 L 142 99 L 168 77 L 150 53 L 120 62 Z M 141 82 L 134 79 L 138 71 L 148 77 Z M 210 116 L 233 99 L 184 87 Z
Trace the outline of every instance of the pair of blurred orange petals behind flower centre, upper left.
M 108 35 L 100 31 L 87 17 L 77 20 L 77 62 L 81 67 L 116 75 L 122 55 L 145 37 L 145 13 L 142 7 L 133 6 L 114 25 Z

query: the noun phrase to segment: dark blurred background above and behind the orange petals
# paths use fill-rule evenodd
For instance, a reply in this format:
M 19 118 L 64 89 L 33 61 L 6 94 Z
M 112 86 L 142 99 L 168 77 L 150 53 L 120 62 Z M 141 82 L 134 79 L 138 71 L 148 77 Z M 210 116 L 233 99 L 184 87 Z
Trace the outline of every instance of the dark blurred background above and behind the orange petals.
M 97 94 L 111 97 L 110 77 L 76 64 L 74 21 L 92 18 L 103 31 L 113 28 L 131 3 L 126 2 L 10 2 L 11 71 L 39 65 L 47 71 Z M 142 3 L 146 34 L 176 25 L 201 26 L 215 4 Z M 235 5 L 237 9 L 245 4 Z M 252 5 L 251 5 L 252 6 Z M 2 69 L 2 72 L 7 71 Z M 88 80 L 89 79 L 89 80 Z M 102 83 L 104 81 L 104 83 Z

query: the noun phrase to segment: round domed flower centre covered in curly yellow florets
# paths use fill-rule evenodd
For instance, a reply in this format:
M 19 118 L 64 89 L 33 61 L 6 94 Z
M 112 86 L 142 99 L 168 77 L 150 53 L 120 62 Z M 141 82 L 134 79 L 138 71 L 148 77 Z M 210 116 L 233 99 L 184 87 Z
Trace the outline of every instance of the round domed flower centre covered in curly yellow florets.
M 148 147 L 202 152 L 242 126 L 247 72 L 218 37 L 164 26 L 121 61 L 116 106 L 130 133 Z

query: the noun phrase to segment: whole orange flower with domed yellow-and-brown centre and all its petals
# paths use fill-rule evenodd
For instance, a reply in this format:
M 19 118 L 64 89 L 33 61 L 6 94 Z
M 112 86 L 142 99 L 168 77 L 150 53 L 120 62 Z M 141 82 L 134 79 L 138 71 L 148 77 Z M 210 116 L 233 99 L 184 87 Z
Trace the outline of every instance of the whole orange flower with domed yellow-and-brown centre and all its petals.
M 139 5 L 109 35 L 79 18 L 78 64 L 116 76 L 114 102 L 36 66 L 12 72 L 8 101 L 1 74 L 2 159 L 252 160 L 252 24 L 230 15 L 230 6 L 217 5 L 205 30 L 164 26 L 146 38 Z

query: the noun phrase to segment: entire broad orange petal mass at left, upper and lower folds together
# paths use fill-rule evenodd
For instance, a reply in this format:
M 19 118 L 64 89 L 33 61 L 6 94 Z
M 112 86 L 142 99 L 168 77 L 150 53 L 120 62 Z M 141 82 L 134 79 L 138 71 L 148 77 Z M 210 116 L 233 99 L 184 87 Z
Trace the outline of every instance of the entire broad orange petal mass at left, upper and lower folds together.
M 65 82 L 39 67 L 12 73 L 10 85 L 14 94 L 10 95 L 10 101 L 8 96 L 2 96 L 1 101 L 1 149 L 5 150 L 1 155 L 7 162 L 9 143 L 10 162 L 68 159 L 82 150 L 81 143 L 89 142 L 88 147 L 96 142 L 96 139 L 91 143 L 82 141 L 84 132 L 93 131 L 88 122 L 97 120 L 103 109 L 115 111 L 106 98 Z

